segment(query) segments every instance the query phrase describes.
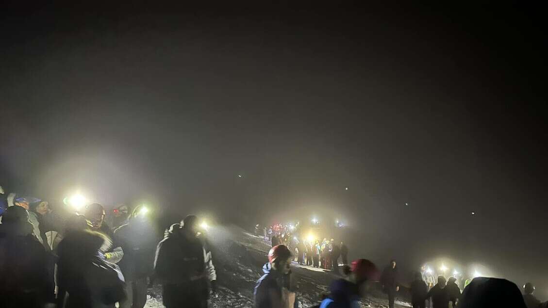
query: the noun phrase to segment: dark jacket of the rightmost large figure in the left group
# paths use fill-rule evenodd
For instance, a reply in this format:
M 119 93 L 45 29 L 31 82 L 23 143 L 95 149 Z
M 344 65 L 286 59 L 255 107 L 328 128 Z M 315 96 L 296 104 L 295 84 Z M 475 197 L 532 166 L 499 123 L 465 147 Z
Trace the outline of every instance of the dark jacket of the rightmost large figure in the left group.
M 207 275 L 204 248 L 196 235 L 174 224 L 158 244 L 154 262 L 156 276 L 163 284 L 163 304 L 167 307 L 199 305 L 203 299 L 203 277 Z

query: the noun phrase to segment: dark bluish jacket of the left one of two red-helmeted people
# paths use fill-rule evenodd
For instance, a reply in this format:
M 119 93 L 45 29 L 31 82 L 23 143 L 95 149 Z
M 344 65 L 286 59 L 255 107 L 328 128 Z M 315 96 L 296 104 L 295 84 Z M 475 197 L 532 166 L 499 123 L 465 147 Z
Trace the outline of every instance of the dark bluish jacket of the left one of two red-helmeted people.
M 270 263 L 262 266 L 261 278 L 255 285 L 255 307 L 272 308 L 272 303 L 281 303 L 284 277 L 278 271 L 272 270 Z

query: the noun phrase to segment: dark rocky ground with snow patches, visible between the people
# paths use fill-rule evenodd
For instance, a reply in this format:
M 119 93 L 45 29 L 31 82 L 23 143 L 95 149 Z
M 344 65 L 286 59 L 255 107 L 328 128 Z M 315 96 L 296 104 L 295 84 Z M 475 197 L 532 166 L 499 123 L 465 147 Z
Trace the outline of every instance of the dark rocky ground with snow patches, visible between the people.
M 262 265 L 270 243 L 245 232 L 238 227 L 213 227 L 209 238 L 215 250 L 214 262 L 218 275 L 218 291 L 213 294 L 210 307 L 253 307 L 253 288 L 262 275 Z M 328 293 L 332 272 L 293 264 L 292 283 L 295 286 L 300 307 L 316 305 L 322 294 Z M 374 289 L 374 288 L 372 288 Z M 163 307 L 161 286 L 149 289 L 146 307 Z M 362 307 L 387 307 L 384 294 L 370 292 L 362 300 Z M 397 301 L 397 307 L 409 307 Z

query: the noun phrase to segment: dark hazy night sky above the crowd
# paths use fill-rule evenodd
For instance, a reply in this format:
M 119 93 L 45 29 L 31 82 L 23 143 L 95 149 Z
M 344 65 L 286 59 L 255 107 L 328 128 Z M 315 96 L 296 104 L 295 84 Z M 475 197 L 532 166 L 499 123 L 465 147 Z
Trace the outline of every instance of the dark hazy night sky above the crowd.
M 336 216 L 375 260 L 450 255 L 540 286 L 542 11 L 8 9 L 1 184 L 250 223 Z

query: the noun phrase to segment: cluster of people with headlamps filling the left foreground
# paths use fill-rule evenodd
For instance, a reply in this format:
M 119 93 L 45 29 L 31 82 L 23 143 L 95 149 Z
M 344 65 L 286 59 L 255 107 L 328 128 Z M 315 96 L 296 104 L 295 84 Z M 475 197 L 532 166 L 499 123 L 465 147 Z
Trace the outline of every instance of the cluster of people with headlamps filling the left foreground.
M 216 272 L 196 216 L 164 229 L 142 204 L 75 211 L 0 195 L 0 306 L 142 308 L 158 281 L 164 306 L 207 307 Z

